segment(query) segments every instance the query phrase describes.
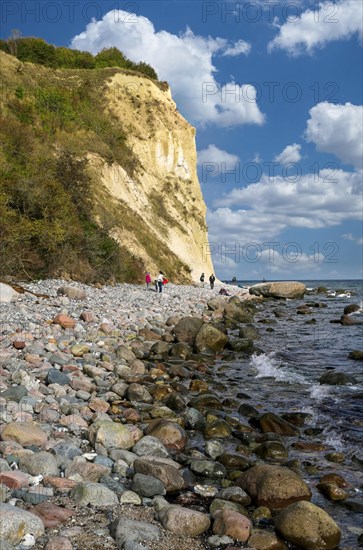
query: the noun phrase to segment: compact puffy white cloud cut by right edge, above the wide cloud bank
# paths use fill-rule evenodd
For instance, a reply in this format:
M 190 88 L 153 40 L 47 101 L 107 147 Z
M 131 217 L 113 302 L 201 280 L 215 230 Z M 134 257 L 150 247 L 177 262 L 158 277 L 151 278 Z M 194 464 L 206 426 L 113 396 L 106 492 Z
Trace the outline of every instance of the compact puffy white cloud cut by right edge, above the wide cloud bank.
M 342 162 L 362 168 L 363 107 L 318 103 L 309 111 L 306 139 L 314 142 L 318 151 L 333 153 Z

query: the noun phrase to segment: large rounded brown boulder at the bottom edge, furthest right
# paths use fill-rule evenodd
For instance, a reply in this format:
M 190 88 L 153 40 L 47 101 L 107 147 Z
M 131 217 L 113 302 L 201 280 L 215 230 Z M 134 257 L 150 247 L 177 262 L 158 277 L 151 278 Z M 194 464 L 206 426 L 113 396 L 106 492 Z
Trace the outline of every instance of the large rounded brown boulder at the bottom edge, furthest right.
M 290 543 L 306 550 L 331 550 L 341 533 L 335 521 L 311 502 L 296 502 L 280 512 L 276 529 Z

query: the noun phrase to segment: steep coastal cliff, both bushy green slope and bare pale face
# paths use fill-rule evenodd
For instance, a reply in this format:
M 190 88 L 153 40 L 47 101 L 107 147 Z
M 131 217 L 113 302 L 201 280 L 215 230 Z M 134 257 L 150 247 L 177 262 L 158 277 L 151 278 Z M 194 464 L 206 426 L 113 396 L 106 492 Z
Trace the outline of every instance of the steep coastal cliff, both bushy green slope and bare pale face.
M 212 273 L 195 130 L 168 85 L 0 55 L 2 275 Z

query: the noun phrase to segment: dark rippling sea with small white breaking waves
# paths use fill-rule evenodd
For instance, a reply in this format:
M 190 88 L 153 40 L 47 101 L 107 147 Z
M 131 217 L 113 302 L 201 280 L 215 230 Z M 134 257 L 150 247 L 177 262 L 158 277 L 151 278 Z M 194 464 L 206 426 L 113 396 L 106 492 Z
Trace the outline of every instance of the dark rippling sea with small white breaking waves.
M 261 281 L 225 281 L 248 288 Z M 260 339 L 260 352 L 249 358 L 224 362 L 217 369 L 219 391 L 236 398 L 246 393 L 250 404 L 261 412 L 307 413 L 307 424 L 320 433 L 303 440 L 320 442 L 324 452 L 291 449 L 289 459 L 300 461 L 304 480 L 313 491 L 312 502 L 325 509 L 342 529 L 339 548 L 358 548 L 357 536 L 363 532 L 363 514 L 344 502 L 331 502 L 317 489 L 319 479 L 328 472 L 341 475 L 349 484 L 353 500 L 363 510 L 363 363 L 348 358 L 353 350 L 363 350 L 363 324 L 342 326 L 330 321 L 340 319 L 350 304 L 359 306 L 351 318 L 363 321 L 363 282 L 361 280 L 301 281 L 307 294 L 303 300 L 266 300 L 254 318 Z M 323 291 L 321 291 L 324 289 Z M 308 315 L 297 314 L 299 305 L 311 302 Z M 318 307 L 319 305 L 319 307 Z M 283 316 L 276 316 L 277 308 Z M 354 382 L 343 386 L 321 384 L 328 371 L 351 375 Z M 246 419 L 244 419 L 246 421 Z M 330 462 L 326 455 L 340 452 L 342 462 Z M 351 499 L 350 499 L 351 500 Z M 349 501 L 347 501 L 349 502 Z M 347 504 L 347 503 L 346 503 Z

